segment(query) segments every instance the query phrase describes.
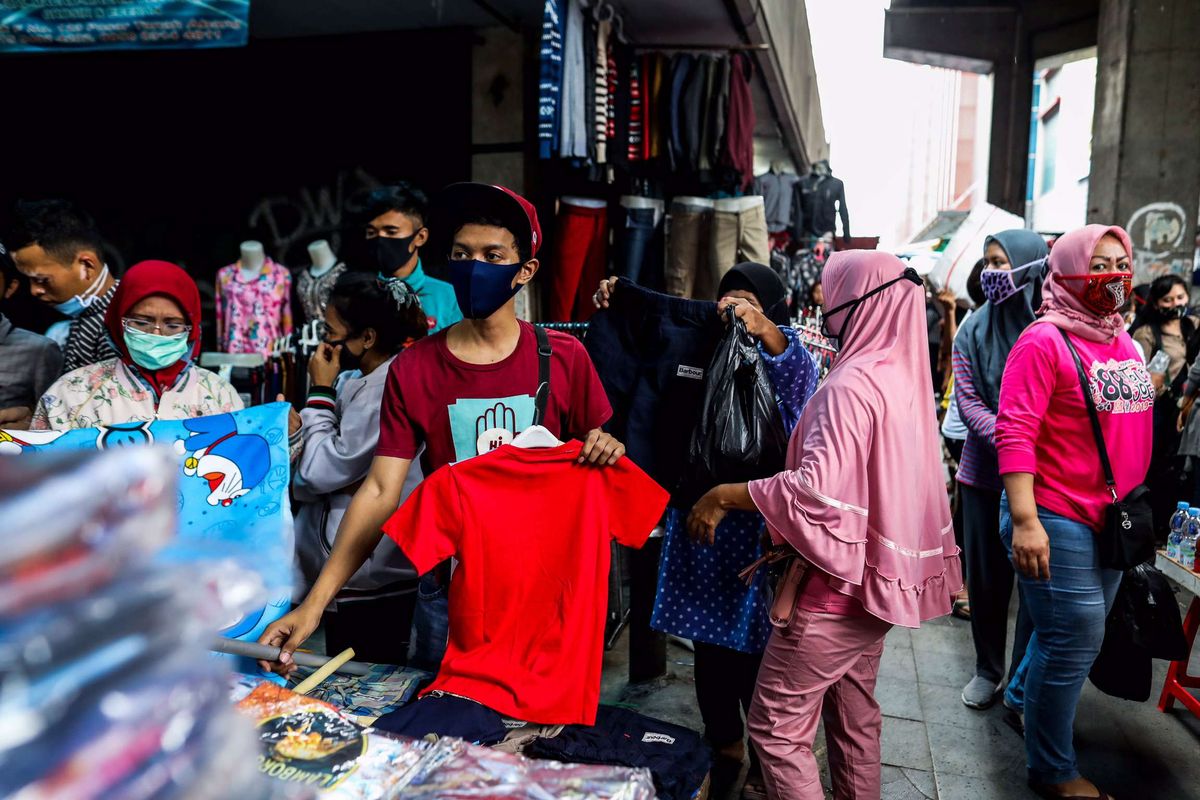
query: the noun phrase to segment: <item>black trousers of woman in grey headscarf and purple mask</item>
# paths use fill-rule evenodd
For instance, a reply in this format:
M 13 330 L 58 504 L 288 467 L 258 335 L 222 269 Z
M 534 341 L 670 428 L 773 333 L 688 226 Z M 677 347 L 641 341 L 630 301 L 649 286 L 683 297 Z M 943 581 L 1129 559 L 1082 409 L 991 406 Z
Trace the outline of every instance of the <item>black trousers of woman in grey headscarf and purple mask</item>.
M 976 648 L 976 674 L 994 684 L 1004 680 L 1004 651 L 1008 646 L 1008 601 L 1013 596 L 1014 571 L 1008 549 L 1000 539 L 1000 492 L 959 483 L 962 507 L 964 557 L 967 591 L 971 596 L 971 638 Z M 1013 657 L 1008 662 L 1012 680 L 1033 633 L 1033 620 L 1018 597 Z

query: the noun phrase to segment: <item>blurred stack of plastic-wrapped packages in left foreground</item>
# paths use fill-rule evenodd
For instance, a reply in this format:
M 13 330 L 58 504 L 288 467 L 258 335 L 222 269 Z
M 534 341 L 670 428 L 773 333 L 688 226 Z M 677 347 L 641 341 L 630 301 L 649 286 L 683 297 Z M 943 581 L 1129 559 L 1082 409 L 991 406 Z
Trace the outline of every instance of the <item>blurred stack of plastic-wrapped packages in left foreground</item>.
M 223 608 L 173 535 L 175 459 L 126 447 L 0 458 L 0 796 L 293 798 L 205 642 Z

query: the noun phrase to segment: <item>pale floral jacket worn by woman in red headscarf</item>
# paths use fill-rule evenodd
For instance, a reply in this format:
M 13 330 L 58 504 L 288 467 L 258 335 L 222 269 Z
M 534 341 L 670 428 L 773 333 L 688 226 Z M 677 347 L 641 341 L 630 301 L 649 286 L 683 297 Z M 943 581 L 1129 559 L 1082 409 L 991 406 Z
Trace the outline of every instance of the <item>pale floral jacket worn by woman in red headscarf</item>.
M 34 410 L 32 431 L 71 431 L 121 422 L 185 420 L 242 409 L 241 397 L 223 378 L 188 366 L 155 402 L 155 393 L 120 359 L 68 372 Z

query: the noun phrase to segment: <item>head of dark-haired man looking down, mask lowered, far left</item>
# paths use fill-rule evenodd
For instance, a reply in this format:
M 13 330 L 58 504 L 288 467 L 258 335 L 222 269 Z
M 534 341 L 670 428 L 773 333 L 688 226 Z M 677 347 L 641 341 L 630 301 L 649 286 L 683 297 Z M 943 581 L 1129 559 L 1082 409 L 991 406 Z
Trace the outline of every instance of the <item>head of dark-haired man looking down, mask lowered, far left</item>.
M 7 243 L 30 294 L 42 302 L 96 296 L 113 284 L 95 223 L 66 200 L 18 203 Z

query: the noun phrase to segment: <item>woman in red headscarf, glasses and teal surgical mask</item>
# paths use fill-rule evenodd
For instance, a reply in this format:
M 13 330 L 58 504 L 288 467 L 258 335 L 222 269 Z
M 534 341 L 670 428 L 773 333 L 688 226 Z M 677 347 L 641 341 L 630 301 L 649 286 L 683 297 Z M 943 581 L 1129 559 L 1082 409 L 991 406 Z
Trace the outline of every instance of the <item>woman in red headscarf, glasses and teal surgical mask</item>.
M 200 293 L 179 266 L 132 266 L 104 324 L 119 357 L 59 378 L 38 401 L 32 429 L 181 420 L 242 408 L 228 381 L 192 362 L 200 351 Z

